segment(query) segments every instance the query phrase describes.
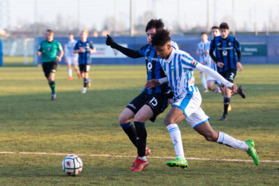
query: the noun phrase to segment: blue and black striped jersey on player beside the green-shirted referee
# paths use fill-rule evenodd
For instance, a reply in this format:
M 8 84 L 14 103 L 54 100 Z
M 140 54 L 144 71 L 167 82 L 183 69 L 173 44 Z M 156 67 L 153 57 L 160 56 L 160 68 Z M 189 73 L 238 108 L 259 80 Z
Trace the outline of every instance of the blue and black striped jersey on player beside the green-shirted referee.
M 89 49 L 93 49 L 93 44 L 91 41 L 86 40 L 86 42 L 82 42 L 81 40 L 77 41 L 77 44 L 75 44 L 75 50 L 79 50 L 80 48 L 84 49 L 84 52 L 80 52 L 79 54 L 79 64 L 90 64 L 91 59 L 90 59 L 90 52 Z

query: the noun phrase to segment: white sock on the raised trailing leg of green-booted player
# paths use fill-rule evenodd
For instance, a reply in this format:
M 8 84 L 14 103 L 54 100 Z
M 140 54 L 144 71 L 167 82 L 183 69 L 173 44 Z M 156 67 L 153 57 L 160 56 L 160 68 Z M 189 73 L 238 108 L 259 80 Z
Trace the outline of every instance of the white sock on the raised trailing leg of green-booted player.
M 248 145 L 245 143 L 245 141 L 240 141 L 238 139 L 235 139 L 223 132 L 219 132 L 219 137 L 216 142 L 219 144 L 230 146 L 232 148 L 248 150 Z

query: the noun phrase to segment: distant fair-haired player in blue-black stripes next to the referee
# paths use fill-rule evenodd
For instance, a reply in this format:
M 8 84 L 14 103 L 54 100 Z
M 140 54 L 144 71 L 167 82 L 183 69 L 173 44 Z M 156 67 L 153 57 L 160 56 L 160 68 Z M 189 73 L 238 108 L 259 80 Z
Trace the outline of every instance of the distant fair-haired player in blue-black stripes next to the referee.
M 86 93 L 86 87 L 90 86 L 91 79 L 89 79 L 89 70 L 91 58 L 90 54 L 96 52 L 96 48 L 93 47 L 91 41 L 87 40 L 89 31 L 84 30 L 80 34 L 80 40 L 77 41 L 75 45 L 74 53 L 79 54 L 78 61 L 80 66 L 80 72 L 82 73 L 84 86 L 82 88 L 82 93 Z

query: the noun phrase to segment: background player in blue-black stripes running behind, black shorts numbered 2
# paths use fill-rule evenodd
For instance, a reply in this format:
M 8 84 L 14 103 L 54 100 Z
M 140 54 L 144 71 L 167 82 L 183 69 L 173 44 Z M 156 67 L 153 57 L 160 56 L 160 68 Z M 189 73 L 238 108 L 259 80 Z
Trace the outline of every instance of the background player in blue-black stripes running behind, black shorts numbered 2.
M 219 28 L 221 36 L 216 36 L 211 41 L 210 56 L 213 61 L 216 61 L 217 70 L 220 75 L 225 77 L 225 79 L 227 79 L 229 82 L 233 83 L 237 69 L 239 69 L 239 71 L 243 69 L 241 65 L 241 51 L 239 41 L 233 36 L 229 36 L 229 25 L 227 23 L 221 23 Z M 216 54 L 214 54 L 214 51 Z M 220 121 L 227 120 L 227 111 L 232 97 L 232 93 L 229 88 L 227 88 L 227 86 L 223 86 L 223 91 L 224 112 L 222 118 L 220 118 Z M 242 98 L 246 98 L 246 94 L 243 91 L 243 86 L 239 86 L 237 93 L 239 93 Z

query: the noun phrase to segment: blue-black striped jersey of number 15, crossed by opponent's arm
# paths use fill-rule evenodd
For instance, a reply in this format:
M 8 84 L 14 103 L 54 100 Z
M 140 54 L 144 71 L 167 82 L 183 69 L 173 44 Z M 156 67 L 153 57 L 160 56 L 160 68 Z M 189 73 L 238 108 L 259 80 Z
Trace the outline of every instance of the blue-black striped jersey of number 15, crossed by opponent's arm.
M 160 56 L 157 55 L 157 52 L 154 47 L 151 45 L 145 45 L 141 49 L 138 50 L 141 56 L 145 56 L 146 63 L 146 72 L 147 72 L 147 80 L 149 79 L 161 79 L 165 76 L 165 72 L 161 68 L 160 65 Z M 153 93 L 165 93 L 167 91 L 167 84 L 162 86 L 156 86 L 147 90 L 144 88 L 142 92 L 153 94 Z

